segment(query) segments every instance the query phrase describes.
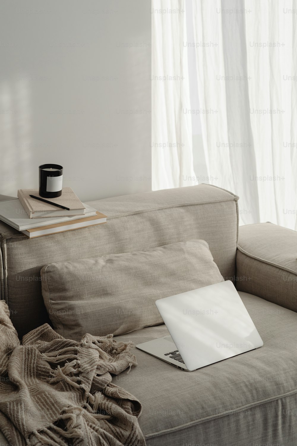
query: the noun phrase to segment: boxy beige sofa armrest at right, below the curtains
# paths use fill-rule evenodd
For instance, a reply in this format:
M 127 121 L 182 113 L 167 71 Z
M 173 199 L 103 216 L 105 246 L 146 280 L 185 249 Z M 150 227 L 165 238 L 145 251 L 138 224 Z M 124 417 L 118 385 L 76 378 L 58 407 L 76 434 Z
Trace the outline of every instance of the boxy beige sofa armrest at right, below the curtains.
M 297 311 L 297 232 L 272 223 L 240 226 L 236 288 Z

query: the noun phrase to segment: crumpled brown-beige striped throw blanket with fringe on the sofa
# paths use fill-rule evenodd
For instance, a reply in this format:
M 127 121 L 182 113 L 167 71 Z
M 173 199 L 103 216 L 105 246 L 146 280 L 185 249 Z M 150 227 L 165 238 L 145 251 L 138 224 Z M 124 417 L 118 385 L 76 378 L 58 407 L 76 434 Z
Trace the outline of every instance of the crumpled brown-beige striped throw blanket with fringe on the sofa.
M 0 430 L 12 446 L 145 445 L 141 404 L 111 382 L 137 365 L 129 349 L 113 335 L 64 339 L 48 324 L 20 344 L 0 301 Z

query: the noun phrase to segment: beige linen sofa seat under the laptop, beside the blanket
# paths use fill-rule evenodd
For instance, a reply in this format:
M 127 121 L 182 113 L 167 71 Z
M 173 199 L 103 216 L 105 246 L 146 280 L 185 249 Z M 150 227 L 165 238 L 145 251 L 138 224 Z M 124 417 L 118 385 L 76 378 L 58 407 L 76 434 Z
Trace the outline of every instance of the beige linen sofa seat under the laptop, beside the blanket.
M 264 345 L 183 372 L 134 347 L 138 366 L 114 376 L 142 403 L 147 446 L 297 444 L 297 313 L 240 293 Z M 135 345 L 168 334 L 147 327 L 117 340 Z

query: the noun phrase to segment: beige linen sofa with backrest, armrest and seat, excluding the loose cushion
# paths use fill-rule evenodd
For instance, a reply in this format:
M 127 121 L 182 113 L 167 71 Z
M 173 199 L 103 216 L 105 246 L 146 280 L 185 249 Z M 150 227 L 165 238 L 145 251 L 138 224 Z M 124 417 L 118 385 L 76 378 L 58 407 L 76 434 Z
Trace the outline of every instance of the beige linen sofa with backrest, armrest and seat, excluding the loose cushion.
M 114 377 L 142 402 L 149 446 L 297 444 L 297 233 L 271 223 L 238 228 L 237 200 L 208 185 L 106 198 L 90 202 L 106 225 L 33 240 L 0 223 L 1 298 L 19 336 L 49 322 L 40 270 L 53 262 L 203 239 L 234 281 L 263 347 L 191 373 L 135 349 L 138 366 Z M 116 339 L 166 334 L 160 325 Z

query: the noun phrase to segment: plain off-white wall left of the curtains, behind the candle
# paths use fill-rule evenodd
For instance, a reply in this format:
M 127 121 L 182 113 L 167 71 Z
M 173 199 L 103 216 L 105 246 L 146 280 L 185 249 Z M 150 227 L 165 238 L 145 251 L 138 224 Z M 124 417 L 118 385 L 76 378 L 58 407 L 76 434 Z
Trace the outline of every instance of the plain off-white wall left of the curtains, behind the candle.
M 151 1 L 0 3 L 0 194 L 64 167 L 82 200 L 151 190 Z

